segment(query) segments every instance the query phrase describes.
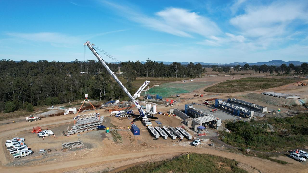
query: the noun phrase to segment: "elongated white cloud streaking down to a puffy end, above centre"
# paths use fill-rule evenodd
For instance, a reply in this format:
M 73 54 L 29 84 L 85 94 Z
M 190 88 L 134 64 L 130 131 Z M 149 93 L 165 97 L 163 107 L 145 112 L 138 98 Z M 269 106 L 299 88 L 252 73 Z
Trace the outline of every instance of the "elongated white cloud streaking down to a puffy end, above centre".
M 124 7 L 106 1 L 102 3 L 120 11 L 120 15 L 123 15 L 131 21 L 140 23 L 152 30 L 158 30 L 180 37 L 192 38 L 193 34 L 208 37 L 221 32 L 216 23 L 209 18 L 182 8 L 167 8 L 151 17 L 129 8 L 129 5 Z

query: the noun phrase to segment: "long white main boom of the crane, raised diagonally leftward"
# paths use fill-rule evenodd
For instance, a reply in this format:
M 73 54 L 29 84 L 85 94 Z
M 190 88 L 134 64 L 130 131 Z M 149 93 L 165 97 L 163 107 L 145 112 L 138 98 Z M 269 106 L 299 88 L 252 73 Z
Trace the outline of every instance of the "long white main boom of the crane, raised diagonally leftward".
M 103 66 L 105 67 L 105 69 L 108 71 L 108 73 L 115 79 L 115 81 L 120 85 L 120 87 L 122 88 L 122 90 L 124 91 L 124 93 L 129 97 L 129 99 L 131 99 L 134 104 L 136 105 L 136 107 L 138 108 L 138 111 L 140 113 L 141 117 L 145 117 L 148 116 L 147 114 L 145 114 L 146 112 L 144 112 L 144 110 L 142 109 L 142 107 L 139 105 L 139 103 L 137 102 L 137 100 L 131 95 L 131 93 L 128 92 L 128 90 L 125 88 L 125 86 L 121 83 L 121 81 L 119 80 L 118 77 L 116 77 L 115 73 L 112 72 L 110 70 L 110 68 L 107 66 L 106 62 L 103 60 L 103 58 L 101 58 L 99 56 L 99 54 L 96 52 L 96 50 L 92 47 L 91 43 L 89 41 L 87 41 L 86 43 L 84 43 L 83 45 L 88 46 L 88 48 L 92 51 L 92 53 L 96 56 L 96 58 L 99 60 L 100 63 L 103 64 Z

